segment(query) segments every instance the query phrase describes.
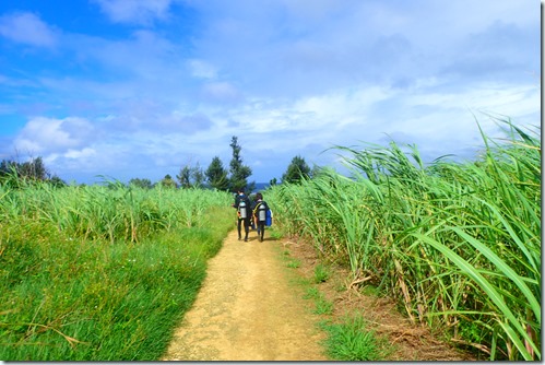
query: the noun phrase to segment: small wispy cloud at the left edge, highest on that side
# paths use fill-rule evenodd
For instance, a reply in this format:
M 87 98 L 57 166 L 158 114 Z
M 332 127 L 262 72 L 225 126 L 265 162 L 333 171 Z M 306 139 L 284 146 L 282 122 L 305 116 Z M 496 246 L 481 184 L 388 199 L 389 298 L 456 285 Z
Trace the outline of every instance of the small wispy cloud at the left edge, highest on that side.
M 54 47 L 56 32 L 33 13 L 12 13 L 0 17 L 0 35 L 35 47 Z

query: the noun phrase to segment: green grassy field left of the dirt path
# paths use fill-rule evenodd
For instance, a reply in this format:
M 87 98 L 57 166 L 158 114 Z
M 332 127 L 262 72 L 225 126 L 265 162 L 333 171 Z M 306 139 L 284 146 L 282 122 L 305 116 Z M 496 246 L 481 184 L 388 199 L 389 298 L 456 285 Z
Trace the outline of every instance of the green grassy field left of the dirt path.
M 154 361 L 233 226 L 232 197 L 0 187 L 0 358 Z

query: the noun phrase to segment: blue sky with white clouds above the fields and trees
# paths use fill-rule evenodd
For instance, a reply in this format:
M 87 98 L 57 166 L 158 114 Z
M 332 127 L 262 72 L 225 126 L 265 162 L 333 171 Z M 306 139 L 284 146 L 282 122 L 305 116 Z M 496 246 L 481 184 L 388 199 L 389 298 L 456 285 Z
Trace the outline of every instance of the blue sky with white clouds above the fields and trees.
M 2 0 L 0 160 L 91 184 L 228 168 L 233 136 L 258 182 L 390 139 L 471 158 L 475 118 L 540 126 L 541 78 L 537 0 Z

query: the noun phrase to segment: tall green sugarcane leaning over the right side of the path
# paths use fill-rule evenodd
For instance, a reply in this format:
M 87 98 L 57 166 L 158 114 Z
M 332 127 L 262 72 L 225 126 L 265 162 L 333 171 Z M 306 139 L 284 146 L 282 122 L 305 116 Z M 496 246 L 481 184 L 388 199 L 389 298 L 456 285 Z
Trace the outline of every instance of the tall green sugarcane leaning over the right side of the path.
M 342 148 L 334 172 L 268 192 L 286 233 L 310 237 L 354 283 L 395 297 L 490 360 L 541 360 L 541 141 L 505 121 L 474 162 L 425 165 L 416 146 Z

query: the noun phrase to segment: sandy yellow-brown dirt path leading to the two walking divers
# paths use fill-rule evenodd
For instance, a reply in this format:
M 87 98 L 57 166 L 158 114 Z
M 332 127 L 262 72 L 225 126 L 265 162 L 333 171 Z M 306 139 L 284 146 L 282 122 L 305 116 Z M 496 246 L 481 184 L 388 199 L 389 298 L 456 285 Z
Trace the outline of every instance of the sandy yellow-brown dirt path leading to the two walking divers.
M 236 231 L 227 236 L 163 360 L 327 360 L 317 344 L 323 334 L 274 245 L 266 233 L 263 243 L 256 232 L 248 243 Z

